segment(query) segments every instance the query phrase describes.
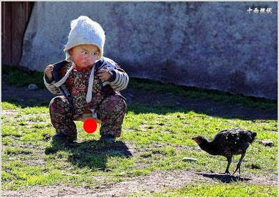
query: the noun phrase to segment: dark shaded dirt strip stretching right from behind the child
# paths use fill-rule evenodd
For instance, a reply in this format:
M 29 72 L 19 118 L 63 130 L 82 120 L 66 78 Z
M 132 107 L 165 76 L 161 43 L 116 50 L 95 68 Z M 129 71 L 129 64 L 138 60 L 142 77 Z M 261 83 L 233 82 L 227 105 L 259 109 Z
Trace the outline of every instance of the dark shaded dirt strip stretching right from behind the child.
M 215 102 L 177 96 L 164 91 L 145 91 L 143 89 L 128 88 L 121 91 L 127 103 L 140 103 L 148 105 L 176 105 L 187 111 L 205 112 L 210 116 L 245 117 L 246 119 L 273 119 L 277 120 L 277 111 L 258 109 L 236 104 L 234 102 Z

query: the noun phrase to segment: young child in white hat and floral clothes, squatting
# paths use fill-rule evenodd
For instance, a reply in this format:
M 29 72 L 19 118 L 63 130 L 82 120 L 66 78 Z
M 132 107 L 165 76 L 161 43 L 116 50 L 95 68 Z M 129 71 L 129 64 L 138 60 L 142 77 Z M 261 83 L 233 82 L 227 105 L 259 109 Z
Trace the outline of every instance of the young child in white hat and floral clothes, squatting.
M 114 142 L 121 135 L 126 111 L 125 98 L 129 77 L 119 66 L 103 56 L 105 32 L 100 24 L 80 16 L 70 24 L 65 61 L 45 68 L 47 89 L 63 93 L 50 102 L 50 118 L 56 130 L 53 140 L 77 140 L 74 121 L 94 109 L 102 121 L 100 142 Z

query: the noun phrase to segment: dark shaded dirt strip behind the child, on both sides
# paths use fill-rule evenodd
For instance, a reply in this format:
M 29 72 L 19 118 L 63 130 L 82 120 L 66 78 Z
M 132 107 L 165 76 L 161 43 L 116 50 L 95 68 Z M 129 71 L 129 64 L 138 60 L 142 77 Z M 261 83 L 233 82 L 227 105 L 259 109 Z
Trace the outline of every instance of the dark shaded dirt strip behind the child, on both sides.
M 3 80 L 1 89 L 2 101 L 8 101 L 10 98 L 15 100 L 16 98 L 18 101 L 15 103 L 30 106 L 42 101 L 52 100 L 57 96 L 47 89 L 29 91 L 28 86 L 15 87 L 6 84 Z M 127 99 L 128 105 L 136 102 L 146 105 L 176 105 L 186 109 L 186 111 L 206 112 L 211 116 L 242 116 L 247 119 L 277 120 L 277 111 L 246 107 L 234 102 L 215 102 L 213 100 L 177 96 L 164 91 L 145 91 L 130 87 L 121 91 L 121 94 Z

